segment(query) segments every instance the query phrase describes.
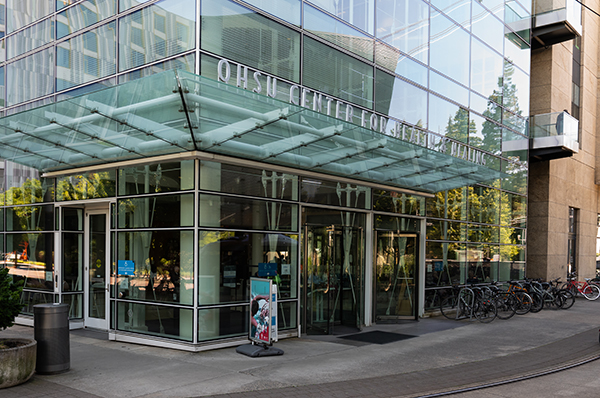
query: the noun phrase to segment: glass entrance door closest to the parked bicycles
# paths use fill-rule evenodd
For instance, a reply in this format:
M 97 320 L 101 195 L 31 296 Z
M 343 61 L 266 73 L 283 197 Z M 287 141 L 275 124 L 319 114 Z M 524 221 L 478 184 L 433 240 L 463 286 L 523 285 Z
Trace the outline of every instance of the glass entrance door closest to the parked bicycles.
M 375 319 L 416 317 L 416 234 L 377 231 L 375 238 Z

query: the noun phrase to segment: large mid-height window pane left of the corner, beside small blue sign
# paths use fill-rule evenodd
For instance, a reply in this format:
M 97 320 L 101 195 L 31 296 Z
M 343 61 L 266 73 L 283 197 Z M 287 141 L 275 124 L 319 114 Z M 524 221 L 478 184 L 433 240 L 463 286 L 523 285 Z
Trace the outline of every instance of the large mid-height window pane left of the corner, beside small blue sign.
M 118 232 L 118 260 L 135 264 L 120 275 L 118 298 L 191 305 L 194 291 L 194 232 Z

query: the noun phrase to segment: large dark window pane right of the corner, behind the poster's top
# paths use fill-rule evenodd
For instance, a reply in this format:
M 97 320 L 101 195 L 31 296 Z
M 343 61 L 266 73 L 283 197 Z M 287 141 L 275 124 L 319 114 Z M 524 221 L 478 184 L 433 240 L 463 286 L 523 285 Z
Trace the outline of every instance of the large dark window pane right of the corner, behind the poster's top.
M 298 235 L 201 231 L 200 305 L 248 302 L 250 277 L 259 263 L 276 263 L 281 298 L 297 297 Z

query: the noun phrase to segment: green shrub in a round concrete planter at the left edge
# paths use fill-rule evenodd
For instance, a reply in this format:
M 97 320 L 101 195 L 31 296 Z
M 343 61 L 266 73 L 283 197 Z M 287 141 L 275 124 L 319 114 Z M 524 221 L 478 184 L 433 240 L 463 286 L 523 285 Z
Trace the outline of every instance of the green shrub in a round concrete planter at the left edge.
M 8 275 L 8 268 L 0 269 L 0 330 L 11 327 L 21 312 L 22 291 Z M 33 339 L 0 338 L 0 389 L 29 380 L 35 371 L 36 349 Z

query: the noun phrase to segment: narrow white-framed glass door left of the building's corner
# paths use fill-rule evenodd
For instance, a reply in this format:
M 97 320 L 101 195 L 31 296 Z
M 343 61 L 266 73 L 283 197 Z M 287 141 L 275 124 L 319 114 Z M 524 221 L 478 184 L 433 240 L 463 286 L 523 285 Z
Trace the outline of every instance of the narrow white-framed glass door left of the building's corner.
M 85 217 L 85 326 L 108 329 L 108 212 L 87 211 Z

